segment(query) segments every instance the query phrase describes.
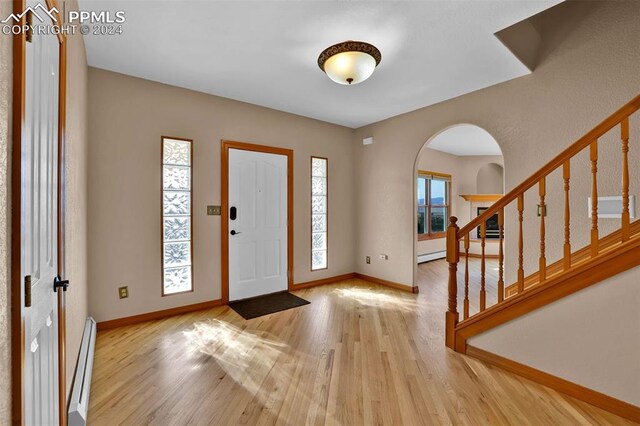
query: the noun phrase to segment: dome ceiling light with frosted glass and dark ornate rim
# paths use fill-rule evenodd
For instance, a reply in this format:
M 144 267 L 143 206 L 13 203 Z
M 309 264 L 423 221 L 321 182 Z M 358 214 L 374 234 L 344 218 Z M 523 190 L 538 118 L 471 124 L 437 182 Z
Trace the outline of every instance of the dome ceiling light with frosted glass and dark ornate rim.
M 349 40 L 324 49 L 318 66 L 336 83 L 358 84 L 371 77 L 381 59 L 374 45 Z

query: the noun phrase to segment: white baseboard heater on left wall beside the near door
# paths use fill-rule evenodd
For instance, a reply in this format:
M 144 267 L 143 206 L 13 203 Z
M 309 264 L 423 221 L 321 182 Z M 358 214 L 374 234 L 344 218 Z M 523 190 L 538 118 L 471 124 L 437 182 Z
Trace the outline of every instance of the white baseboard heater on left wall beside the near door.
M 69 426 L 85 426 L 89 413 L 89 391 L 91 388 L 91 371 L 93 370 L 93 352 L 96 346 L 96 322 L 93 318 L 87 318 L 84 323 L 82 342 L 80 343 L 80 355 L 76 375 L 73 378 L 73 389 L 69 401 Z M 61 378 L 64 380 L 64 377 Z

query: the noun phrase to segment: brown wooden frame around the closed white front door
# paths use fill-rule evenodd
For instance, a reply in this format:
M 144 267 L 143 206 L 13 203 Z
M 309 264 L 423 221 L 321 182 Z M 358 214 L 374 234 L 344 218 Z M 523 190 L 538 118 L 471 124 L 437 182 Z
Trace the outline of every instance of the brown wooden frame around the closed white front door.
M 229 303 L 229 149 L 278 154 L 287 157 L 287 289 L 293 290 L 293 150 L 229 140 L 220 141 L 221 148 L 221 290 L 222 303 Z

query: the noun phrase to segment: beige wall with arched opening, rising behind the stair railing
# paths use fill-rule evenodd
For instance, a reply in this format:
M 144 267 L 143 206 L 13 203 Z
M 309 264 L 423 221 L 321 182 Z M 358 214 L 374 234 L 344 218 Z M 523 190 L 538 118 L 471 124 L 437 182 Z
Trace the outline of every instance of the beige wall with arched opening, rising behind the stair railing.
M 407 285 L 414 281 L 413 165 L 424 142 L 442 129 L 471 123 L 491 133 L 504 154 L 509 190 L 640 93 L 640 3 L 569 2 L 547 15 L 539 25 L 543 45 L 540 65 L 533 74 L 356 131 L 357 210 L 362 212 L 357 222 L 358 272 Z M 360 141 L 366 136 L 373 136 L 375 143 L 362 146 Z M 637 143 L 638 139 L 634 140 Z M 631 151 L 632 161 L 638 161 L 637 154 L 638 150 Z M 589 223 L 585 197 L 588 164 L 583 160 L 575 162 L 572 179 L 576 242 L 581 242 L 580 235 L 585 232 L 580 230 L 587 230 Z M 614 154 L 603 154 L 602 161 L 609 167 L 600 179 L 608 178 L 619 187 L 618 159 Z M 605 168 L 601 166 L 601 170 Z M 637 173 L 637 168 L 632 171 Z M 601 182 L 603 188 L 605 183 Z M 634 185 L 632 193 L 637 194 Z M 556 191 L 549 196 L 547 229 L 552 230 L 562 221 L 562 186 L 557 176 L 547 186 Z M 377 190 L 368 191 L 371 187 Z M 608 195 L 613 191 L 607 188 Z M 525 198 L 525 215 L 530 219 L 526 248 L 535 253 L 527 259 L 535 263 L 539 246 L 536 198 L 533 192 Z M 609 226 L 605 222 L 604 228 Z M 377 232 L 370 232 L 372 229 Z M 560 235 L 548 233 L 550 260 L 558 256 Z M 379 252 L 387 253 L 389 260 L 373 257 L 371 265 L 365 264 L 368 253 Z M 508 268 L 507 274 L 512 272 Z

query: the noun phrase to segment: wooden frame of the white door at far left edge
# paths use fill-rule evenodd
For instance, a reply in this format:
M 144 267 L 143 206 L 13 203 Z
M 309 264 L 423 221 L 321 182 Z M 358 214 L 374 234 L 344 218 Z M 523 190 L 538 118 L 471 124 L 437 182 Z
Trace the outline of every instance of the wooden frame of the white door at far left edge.
M 57 0 L 46 0 L 51 10 L 58 11 Z M 22 13 L 26 0 L 13 1 L 13 13 Z M 63 23 L 63 16 L 55 13 L 56 21 Z M 18 25 L 26 24 L 26 14 Z M 60 44 L 58 65 L 58 274 L 65 276 L 65 123 L 67 81 L 67 39 L 57 34 Z M 11 152 L 11 417 L 13 424 L 24 424 L 24 369 L 25 369 L 25 308 L 22 285 L 22 147 L 25 142 L 26 104 L 26 34 L 13 36 L 13 88 L 12 88 L 12 152 Z M 53 285 L 53 283 L 51 283 Z M 64 291 L 58 291 L 58 411 L 60 426 L 67 424 L 66 390 L 66 317 Z

